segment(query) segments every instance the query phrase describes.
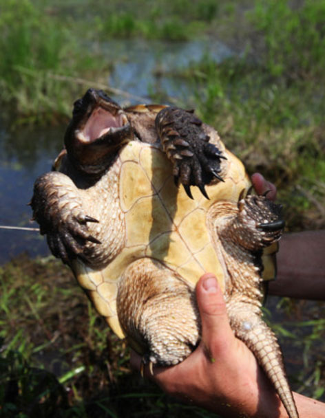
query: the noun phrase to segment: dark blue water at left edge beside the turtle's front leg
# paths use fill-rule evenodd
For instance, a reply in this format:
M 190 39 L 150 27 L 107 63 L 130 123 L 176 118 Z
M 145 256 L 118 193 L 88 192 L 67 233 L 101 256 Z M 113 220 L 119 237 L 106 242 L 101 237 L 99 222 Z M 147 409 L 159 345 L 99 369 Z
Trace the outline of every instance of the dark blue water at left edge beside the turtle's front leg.
M 3 119 L 0 126 L 0 225 L 37 227 L 27 203 L 34 180 L 50 170 L 62 147 L 64 127 L 12 129 Z M 48 249 L 38 232 L 0 230 L 0 263 L 21 252 L 46 255 Z

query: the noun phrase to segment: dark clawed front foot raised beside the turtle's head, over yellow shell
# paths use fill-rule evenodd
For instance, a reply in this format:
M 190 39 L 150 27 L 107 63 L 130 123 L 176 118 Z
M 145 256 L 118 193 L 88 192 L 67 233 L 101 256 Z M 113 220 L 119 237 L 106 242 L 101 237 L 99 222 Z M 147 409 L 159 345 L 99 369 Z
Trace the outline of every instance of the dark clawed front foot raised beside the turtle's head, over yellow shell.
M 209 142 L 202 122 L 191 111 L 165 107 L 156 117 L 156 130 L 167 157 L 173 164 L 176 184 L 180 181 L 193 199 L 190 186 L 198 186 L 209 199 L 205 185 L 220 176 L 221 151 Z

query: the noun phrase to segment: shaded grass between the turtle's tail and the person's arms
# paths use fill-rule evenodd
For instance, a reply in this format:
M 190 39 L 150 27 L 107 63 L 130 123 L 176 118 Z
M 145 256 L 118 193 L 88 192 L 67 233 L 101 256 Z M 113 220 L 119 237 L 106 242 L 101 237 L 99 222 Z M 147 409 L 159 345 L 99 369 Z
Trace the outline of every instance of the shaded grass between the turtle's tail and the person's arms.
M 324 303 L 271 298 L 266 306 L 280 313 L 275 320 L 266 309 L 266 318 L 281 344 L 295 391 L 324 401 Z

